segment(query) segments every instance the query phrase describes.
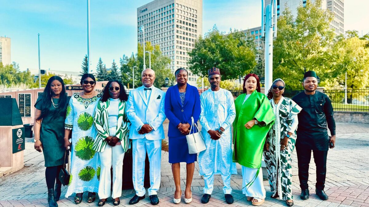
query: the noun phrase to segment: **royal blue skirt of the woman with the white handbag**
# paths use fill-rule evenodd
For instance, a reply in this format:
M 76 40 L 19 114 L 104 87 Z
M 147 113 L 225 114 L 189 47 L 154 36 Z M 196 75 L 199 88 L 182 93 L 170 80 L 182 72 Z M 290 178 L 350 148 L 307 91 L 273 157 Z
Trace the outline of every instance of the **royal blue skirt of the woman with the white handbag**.
M 197 161 L 197 154 L 188 153 L 186 136 L 169 137 L 169 163 Z

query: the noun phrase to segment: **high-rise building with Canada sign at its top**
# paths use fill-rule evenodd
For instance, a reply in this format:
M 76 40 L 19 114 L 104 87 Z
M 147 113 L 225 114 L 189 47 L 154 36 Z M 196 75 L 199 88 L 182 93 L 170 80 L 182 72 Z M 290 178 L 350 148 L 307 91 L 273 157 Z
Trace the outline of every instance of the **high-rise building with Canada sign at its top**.
M 169 57 L 168 68 L 173 73 L 180 67 L 188 70 L 188 52 L 202 35 L 202 24 L 202 0 L 154 0 L 137 8 L 138 42 L 159 45 L 162 54 Z M 145 28 L 145 40 L 140 31 L 142 25 Z M 188 71 L 188 83 L 196 86 L 199 77 Z

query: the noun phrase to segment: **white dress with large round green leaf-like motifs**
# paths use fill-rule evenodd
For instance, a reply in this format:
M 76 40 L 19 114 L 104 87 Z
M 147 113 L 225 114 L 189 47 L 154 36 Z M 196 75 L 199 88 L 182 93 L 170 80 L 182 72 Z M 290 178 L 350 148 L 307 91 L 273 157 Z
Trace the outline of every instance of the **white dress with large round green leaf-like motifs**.
M 93 114 L 101 94 L 82 98 L 79 94 L 69 100 L 65 129 L 72 130 L 70 180 L 65 197 L 85 191 L 98 192 L 100 179 L 99 153 L 92 149 L 97 135 Z

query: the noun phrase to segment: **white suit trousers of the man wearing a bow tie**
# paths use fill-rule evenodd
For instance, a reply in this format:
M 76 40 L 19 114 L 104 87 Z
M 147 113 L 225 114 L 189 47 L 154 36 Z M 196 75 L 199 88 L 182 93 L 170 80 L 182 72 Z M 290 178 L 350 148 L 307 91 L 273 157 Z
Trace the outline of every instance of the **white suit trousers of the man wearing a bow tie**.
M 146 193 L 144 187 L 146 152 L 150 162 L 149 196 L 156 195 L 156 191 L 160 188 L 161 142 L 162 140 L 147 140 L 146 137 L 132 140 L 132 180 L 137 196 L 144 196 Z

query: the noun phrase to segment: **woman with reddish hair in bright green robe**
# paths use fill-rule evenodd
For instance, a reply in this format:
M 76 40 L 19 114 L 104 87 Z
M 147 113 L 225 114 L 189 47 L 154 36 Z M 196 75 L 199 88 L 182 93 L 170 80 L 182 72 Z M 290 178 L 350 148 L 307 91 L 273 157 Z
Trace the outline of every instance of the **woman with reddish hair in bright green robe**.
M 263 147 L 275 119 L 268 98 L 260 93 L 258 76 L 245 77 L 244 94 L 237 97 L 235 107 L 233 162 L 242 165 L 242 193 L 258 206 L 265 199 L 261 172 Z

